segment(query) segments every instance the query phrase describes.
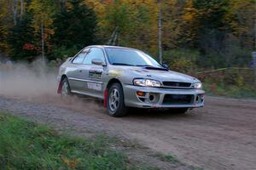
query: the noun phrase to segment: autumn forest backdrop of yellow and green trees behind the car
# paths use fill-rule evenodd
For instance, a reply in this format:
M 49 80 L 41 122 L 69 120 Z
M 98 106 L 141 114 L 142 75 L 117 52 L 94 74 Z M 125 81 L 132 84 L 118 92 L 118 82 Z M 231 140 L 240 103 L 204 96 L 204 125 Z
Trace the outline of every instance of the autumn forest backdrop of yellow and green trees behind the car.
M 251 61 L 255 0 L 163 0 L 161 8 L 164 60 L 174 69 Z M 139 48 L 158 59 L 158 13 L 155 0 L 1 0 L 0 50 L 32 60 L 43 39 L 49 60 L 90 44 Z

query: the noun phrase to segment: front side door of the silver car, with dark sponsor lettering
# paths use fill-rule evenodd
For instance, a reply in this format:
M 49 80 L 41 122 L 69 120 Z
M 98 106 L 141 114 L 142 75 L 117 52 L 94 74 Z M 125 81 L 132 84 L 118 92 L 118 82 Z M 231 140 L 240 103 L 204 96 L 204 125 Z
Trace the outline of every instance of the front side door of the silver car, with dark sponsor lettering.
M 90 94 L 96 97 L 102 97 L 103 82 L 102 73 L 106 70 L 106 66 L 92 64 L 92 59 L 102 59 L 106 63 L 105 55 L 102 48 L 90 48 L 83 61 L 84 76 L 87 78 L 85 94 Z

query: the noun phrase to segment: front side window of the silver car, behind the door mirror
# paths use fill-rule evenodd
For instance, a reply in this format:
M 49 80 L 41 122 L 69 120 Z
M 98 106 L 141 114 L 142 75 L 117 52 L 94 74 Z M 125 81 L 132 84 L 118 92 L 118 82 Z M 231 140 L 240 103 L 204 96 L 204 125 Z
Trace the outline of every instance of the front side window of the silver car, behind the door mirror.
M 90 51 L 86 55 L 83 64 L 91 65 L 92 59 L 102 59 L 102 61 L 105 62 L 105 57 L 101 48 L 90 48 Z

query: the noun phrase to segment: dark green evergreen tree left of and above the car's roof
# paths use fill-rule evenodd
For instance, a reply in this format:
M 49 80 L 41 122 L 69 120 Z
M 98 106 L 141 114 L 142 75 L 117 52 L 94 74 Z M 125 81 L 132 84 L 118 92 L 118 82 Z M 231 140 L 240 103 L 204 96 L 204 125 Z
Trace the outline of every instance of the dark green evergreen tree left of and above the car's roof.
M 84 48 L 96 43 L 96 14 L 80 0 L 70 2 L 70 8 L 55 15 L 56 48 Z

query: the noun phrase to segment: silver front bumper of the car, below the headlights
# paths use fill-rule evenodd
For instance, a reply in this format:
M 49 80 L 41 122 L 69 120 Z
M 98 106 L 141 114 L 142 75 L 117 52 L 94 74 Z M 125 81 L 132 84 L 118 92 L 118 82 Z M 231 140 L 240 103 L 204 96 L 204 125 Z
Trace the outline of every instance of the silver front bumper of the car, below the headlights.
M 139 108 L 196 108 L 204 106 L 205 91 L 201 89 L 175 89 L 175 88 L 148 88 L 134 85 L 123 86 L 125 105 Z M 137 92 L 144 92 L 145 96 L 138 96 Z M 188 95 L 191 100 L 188 103 L 166 102 L 166 94 Z M 149 96 L 154 95 L 154 100 Z

